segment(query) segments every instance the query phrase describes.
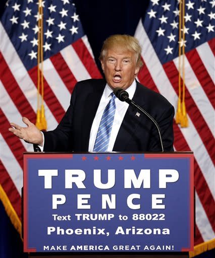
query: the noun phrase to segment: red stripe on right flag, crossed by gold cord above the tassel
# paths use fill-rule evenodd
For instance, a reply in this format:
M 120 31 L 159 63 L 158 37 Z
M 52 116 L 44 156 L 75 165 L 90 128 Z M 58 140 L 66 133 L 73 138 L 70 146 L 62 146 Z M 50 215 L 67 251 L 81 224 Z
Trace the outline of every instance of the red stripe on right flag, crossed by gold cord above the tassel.
M 178 70 L 175 66 L 173 61 L 165 63 L 163 65 L 164 70 L 175 89 L 176 93 L 178 94 Z M 190 116 L 198 134 L 208 152 L 213 163 L 215 163 L 215 150 L 214 150 L 214 138 L 207 123 L 204 120 L 204 117 L 200 113 L 198 107 L 196 106 L 192 96 L 190 95 L 189 91 L 187 90 L 185 93 L 185 103 L 186 103 L 186 111 Z

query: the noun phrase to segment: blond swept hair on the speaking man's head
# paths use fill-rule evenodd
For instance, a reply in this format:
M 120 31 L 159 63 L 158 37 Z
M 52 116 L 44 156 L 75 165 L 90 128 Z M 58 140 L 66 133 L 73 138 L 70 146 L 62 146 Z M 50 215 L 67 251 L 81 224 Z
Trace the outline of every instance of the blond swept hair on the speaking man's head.
M 103 60 L 106 51 L 111 48 L 115 47 L 120 47 L 124 48 L 126 50 L 132 51 L 136 53 L 137 55 L 137 66 L 139 68 L 142 67 L 143 62 L 141 60 L 141 46 L 139 44 L 139 41 L 130 35 L 121 35 L 121 34 L 116 34 L 108 37 L 107 39 L 104 40 L 103 46 L 101 48 L 99 60 Z

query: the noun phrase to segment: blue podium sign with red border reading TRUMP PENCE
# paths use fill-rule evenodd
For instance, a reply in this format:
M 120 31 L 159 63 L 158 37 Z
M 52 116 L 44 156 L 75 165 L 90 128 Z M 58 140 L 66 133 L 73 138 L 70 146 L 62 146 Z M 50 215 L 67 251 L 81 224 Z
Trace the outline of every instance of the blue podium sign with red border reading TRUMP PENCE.
M 193 250 L 193 154 L 24 154 L 24 251 Z

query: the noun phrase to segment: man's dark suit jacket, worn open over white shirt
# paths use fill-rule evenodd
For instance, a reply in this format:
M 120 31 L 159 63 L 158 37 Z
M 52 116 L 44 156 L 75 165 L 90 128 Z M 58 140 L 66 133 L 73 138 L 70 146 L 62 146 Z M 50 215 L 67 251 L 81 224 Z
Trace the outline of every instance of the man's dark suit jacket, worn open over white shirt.
M 70 106 L 57 128 L 44 132 L 43 151 L 88 151 L 91 125 L 104 87 L 103 79 L 78 82 L 71 96 Z M 137 82 L 133 97 L 158 123 L 165 151 L 173 151 L 174 107 L 162 95 Z M 161 151 L 155 125 L 129 106 L 120 127 L 113 151 Z

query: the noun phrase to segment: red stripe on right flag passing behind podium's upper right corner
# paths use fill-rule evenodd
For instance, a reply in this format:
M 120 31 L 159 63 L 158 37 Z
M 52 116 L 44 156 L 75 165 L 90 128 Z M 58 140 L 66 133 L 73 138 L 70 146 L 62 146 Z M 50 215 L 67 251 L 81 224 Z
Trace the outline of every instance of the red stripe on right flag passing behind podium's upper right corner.
M 187 145 L 187 142 L 184 139 L 184 136 L 182 135 L 181 130 L 179 126 L 176 124 L 175 120 L 174 120 L 173 126 L 174 126 L 174 136 L 175 136 L 174 146 L 176 150 L 190 151 L 190 148 Z M 196 192 L 204 208 L 204 211 L 207 215 L 207 218 L 213 230 L 215 230 L 215 221 L 214 221 L 215 202 L 214 202 L 213 196 L 211 195 L 207 182 L 204 179 L 204 175 L 202 174 L 201 169 L 197 164 L 196 159 L 194 159 L 194 171 L 195 171 L 194 186 L 195 186 Z

